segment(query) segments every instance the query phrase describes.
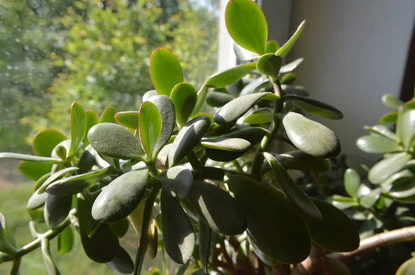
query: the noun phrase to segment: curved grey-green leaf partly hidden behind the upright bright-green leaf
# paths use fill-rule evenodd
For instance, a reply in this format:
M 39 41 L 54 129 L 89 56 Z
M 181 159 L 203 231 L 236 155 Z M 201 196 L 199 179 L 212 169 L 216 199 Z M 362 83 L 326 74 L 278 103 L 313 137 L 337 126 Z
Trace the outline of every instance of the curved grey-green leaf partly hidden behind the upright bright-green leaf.
M 172 99 L 166 95 L 157 95 L 155 97 L 151 97 L 149 100 L 156 105 L 161 115 L 161 132 L 153 148 L 153 158 L 155 159 L 158 152 L 160 152 L 172 136 L 174 126 L 176 126 L 176 112 L 174 111 Z M 151 120 L 155 119 L 155 117 L 151 117 Z M 155 122 L 152 124 L 155 124 Z

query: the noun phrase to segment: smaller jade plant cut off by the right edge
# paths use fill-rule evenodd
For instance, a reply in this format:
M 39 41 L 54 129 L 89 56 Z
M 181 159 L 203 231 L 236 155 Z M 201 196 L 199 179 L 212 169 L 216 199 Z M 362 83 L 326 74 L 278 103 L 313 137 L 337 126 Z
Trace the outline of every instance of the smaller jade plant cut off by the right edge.
M 386 94 L 382 102 L 394 111 L 380 117 L 381 124 L 365 126 L 369 135 L 356 141 L 363 152 L 382 156 L 377 162 L 357 156 L 345 158 L 349 168 L 344 171 L 344 190 L 348 196 L 336 194 L 330 198 L 358 225 L 362 247 L 353 256 L 360 256 L 356 265 L 359 274 L 368 270 L 381 274 L 396 272 L 415 250 L 412 245 L 401 243 L 414 240 L 403 236 L 412 236 L 408 232 L 415 230 L 415 101 L 404 103 Z M 392 238 L 380 238 L 378 234 L 383 232 L 390 232 Z M 374 242 L 375 238 L 382 241 Z M 385 248 L 374 251 L 377 247 Z M 373 253 L 363 255 L 364 252 Z M 383 260 L 378 263 L 378 258 Z M 414 268 L 412 258 L 396 274 L 410 274 Z

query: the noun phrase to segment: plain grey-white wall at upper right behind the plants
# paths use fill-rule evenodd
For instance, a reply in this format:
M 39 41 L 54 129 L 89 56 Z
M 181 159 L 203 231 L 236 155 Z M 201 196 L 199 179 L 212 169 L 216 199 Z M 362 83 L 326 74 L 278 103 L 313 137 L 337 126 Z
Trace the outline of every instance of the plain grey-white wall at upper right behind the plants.
M 399 94 L 414 16 L 414 0 L 292 1 L 290 33 L 306 19 L 289 56 L 305 59 L 297 84 L 344 113 L 343 120 L 320 120 L 338 134 L 343 153 L 361 153 L 355 141 L 362 126 L 388 111 L 381 95 Z

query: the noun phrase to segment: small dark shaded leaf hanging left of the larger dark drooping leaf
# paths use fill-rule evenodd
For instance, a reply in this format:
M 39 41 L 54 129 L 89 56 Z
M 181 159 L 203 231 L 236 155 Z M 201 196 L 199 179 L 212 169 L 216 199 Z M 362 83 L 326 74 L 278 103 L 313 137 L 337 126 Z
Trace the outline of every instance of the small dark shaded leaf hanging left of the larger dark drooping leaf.
M 48 195 L 45 202 L 45 221 L 53 229 L 63 222 L 71 211 L 72 196 Z

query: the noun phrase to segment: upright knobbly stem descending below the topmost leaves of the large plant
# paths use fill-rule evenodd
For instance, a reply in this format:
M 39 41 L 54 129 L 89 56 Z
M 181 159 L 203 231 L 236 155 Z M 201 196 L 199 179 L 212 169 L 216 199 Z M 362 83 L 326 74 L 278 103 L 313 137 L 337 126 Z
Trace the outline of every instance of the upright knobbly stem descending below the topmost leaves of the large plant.
M 275 95 L 281 97 L 281 84 L 279 84 L 279 81 L 272 83 Z M 281 124 L 281 120 L 279 120 L 276 114 L 282 112 L 283 106 L 284 105 L 281 99 L 275 101 L 275 106 L 273 110 L 273 123 L 271 123 L 270 128 L 268 129 L 270 135 L 264 136 L 264 138 L 261 141 L 261 146 L 258 148 L 257 153 L 255 154 L 254 161 L 252 162 L 251 174 L 252 176 L 257 178 L 257 180 L 261 179 L 261 166 L 262 162 L 264 162 L 264 155 L 262 155 L 262 152 L 268 151 L 270 149 L 271 143 L 273 142 L 275 135 L 277 135 L 279 124 Z

